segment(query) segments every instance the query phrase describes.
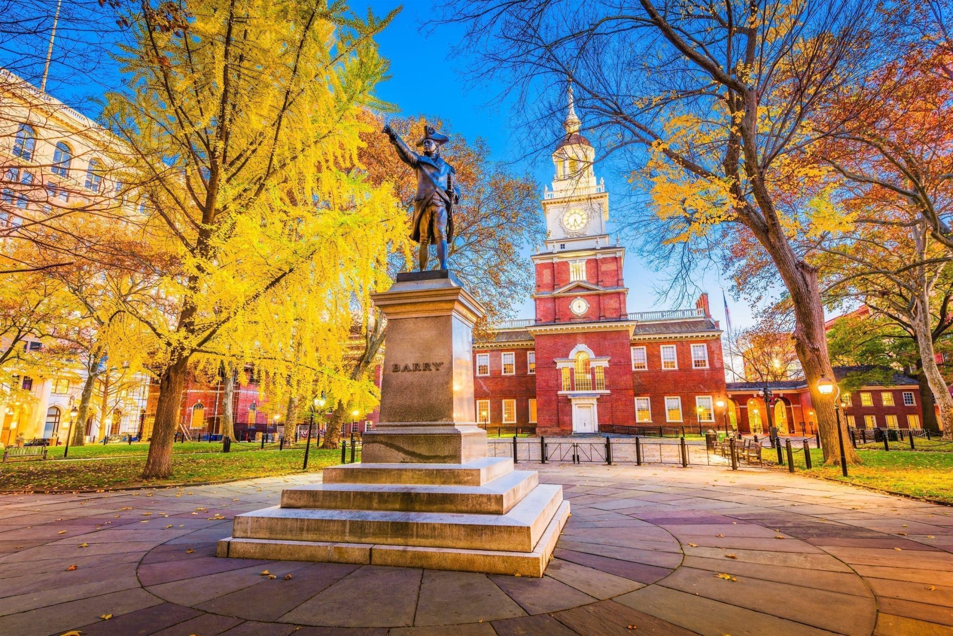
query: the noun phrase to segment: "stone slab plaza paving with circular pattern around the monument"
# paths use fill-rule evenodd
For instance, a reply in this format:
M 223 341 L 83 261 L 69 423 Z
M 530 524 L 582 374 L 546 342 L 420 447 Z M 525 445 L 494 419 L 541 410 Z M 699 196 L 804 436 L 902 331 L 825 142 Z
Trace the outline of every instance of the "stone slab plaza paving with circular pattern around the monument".
M 542 579 L 214 557 L 299 477 L 0 496 L 0 634 L 953 634 L 953 508 L 780 471 L 534 467 L 573 507 Z

